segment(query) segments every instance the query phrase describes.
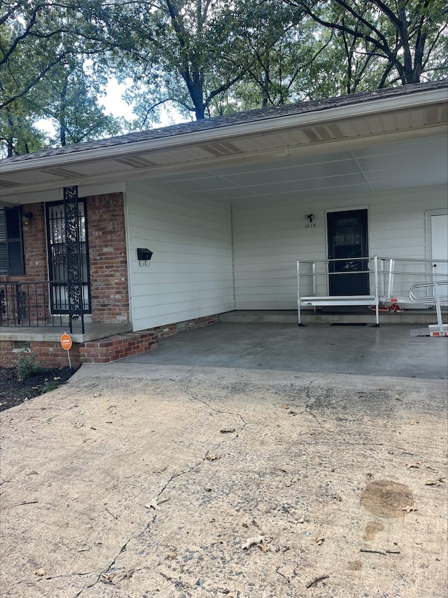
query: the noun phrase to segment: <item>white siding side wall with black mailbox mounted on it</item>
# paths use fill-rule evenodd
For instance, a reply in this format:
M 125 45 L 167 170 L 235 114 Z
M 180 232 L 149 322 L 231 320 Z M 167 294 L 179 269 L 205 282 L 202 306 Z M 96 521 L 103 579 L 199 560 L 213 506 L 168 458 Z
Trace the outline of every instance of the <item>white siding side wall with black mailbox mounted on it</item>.
M 228 206 L 142 182 L 127 184 L 126 206 L 134 330 L 235 308 Z M 151 266 L 137 247 L 154 253 Z

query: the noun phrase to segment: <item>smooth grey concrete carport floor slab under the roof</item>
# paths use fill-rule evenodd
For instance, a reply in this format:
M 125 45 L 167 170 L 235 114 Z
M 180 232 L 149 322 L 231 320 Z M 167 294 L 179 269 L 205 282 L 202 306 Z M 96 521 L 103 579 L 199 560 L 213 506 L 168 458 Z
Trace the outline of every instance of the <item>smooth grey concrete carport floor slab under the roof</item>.
M 398 316 L 399 317 L 399 316 Z M 123 362 L 445 379 L 447 338 L 411 337 L 412 325 L 306 327 L 223 323 L 162 339 Z

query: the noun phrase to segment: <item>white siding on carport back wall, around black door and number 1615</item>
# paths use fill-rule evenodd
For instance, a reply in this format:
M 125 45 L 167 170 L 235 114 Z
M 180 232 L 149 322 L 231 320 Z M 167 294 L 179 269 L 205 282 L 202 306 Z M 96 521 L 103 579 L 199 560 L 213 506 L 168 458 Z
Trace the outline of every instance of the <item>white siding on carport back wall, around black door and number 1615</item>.
M 425 210 L 446 207 L 444 186 L 234 207 L 235 308 L 297 307 L 296 260 L 327 257 L 326 210 L 367 208 L 370 255 L 425 258 Z

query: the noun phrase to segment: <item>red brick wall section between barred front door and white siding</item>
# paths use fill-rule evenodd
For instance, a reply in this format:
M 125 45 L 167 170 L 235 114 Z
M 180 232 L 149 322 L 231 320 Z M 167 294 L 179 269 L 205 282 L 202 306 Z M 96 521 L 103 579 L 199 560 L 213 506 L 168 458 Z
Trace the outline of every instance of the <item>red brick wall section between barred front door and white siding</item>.
M 129 290 L 123 193 L 87 198 L 94 322 L 128 322 Z

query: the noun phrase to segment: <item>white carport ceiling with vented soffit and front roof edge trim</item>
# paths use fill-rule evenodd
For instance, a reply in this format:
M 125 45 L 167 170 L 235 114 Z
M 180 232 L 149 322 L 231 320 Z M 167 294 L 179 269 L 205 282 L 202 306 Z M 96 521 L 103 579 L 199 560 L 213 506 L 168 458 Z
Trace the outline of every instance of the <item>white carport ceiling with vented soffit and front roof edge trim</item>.
M 300 200 L 444 184 L 446 90 L 109 147 L 3 161 L 5 203 L 62 186 L 151 179 L 208 201 Z M 162 130 L 160 130 L 162 132 Z M 88 146 L 88 144 L 87 144 Z M 65 148 L 63 148 L 64 150 Z

